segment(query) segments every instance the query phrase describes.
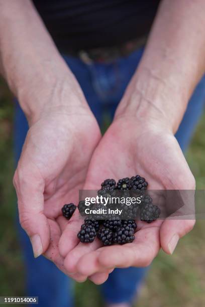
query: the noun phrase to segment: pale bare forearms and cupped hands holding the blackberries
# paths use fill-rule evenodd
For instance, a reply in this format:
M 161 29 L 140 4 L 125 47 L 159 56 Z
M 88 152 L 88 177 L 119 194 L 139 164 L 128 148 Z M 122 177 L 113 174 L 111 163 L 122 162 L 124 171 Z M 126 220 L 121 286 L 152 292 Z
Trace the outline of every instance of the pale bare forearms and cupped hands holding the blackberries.
M 204 1 L 162 1 L 103 137 L 31 2 L 0 0 L 0 12 L 2 74 L 30 125 L 14 185 L 35 256 L 44 254 L 77 281 L 100 284 L 115 267 L 147 266 L 160 248 L 171 254 L 194 220 L 139 222 L 133 243 L 102 247 L 98 240 L 79 243 L 79 213 L 68 222 L 60 208 L 77 203 L 79 189 L 125 174 L 141 174 L 150 189 L 195 189 L 174 133 L 205 69 Z

